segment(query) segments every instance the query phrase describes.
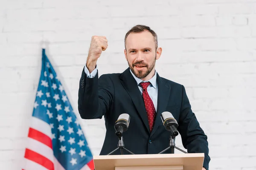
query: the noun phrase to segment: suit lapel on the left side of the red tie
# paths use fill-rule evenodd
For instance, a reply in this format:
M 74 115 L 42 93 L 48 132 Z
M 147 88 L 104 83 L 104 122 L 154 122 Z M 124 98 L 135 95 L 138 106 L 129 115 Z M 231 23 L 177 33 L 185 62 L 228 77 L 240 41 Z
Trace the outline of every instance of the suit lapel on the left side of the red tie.
M 130 73 L 130 69 L 126 69 L 122 75 L 121 75 L 121 83 L 124 86 L 125 90 L 131 97 L 141 119 L 143 120 L 143 123 L 145 127 L 148 130 L 148 133 L 150 133 L 149 125 L 148 125 L 148 117 L 145 109 L 145 104 L 142 95 L 140 94 L 140 90 L 138 88 L 137 82 L 134 79 L 134 77 Z

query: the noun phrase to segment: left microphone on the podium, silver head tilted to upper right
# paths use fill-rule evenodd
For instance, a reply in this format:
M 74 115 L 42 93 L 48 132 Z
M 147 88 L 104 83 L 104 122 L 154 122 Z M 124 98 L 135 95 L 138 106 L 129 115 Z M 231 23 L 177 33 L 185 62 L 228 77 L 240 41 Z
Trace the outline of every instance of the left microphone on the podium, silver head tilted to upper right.
M 116 135 L 119 137 L 122 136 L 122 133 L 128 129 L 129 123 L 130 115 L 128 115 L 127 113 L 120 114 L 115 123 Z

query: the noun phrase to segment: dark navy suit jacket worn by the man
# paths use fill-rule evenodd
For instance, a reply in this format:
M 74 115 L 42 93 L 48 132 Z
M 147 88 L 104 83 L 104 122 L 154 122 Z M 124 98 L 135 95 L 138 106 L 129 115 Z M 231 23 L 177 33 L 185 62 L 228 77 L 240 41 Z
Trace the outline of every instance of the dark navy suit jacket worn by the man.
M 107 155 L 116 149 L 118 137 L 114 124 L 122 113 L 131 116 L 129 129 L 123 133 L 125 148 L 135 154 L 160 153 L 169 146 L 170 135 L 160 115 L 169 111 L 178 122 L 177 130 L 183 146 L 189 153 L 204 153 L 204 167 L 208 169 L 210 158 L 207 136 L 191 110 L 184 86 L 158 74 L 157 83 L 157 115 L 150 133 L 143 97 L 129 68 L 121 74 L 104 74 L 99 78 L 98 73 L 96 77 L 88 78 L 82 71 L 78 99 L 81 118 L 105 118 L 106 136 L 100 155 Z M 170 153 L 170 150 L 165 153 Z M 120 154 L 120 151 L 114 154 Z M 129 153 L 124 151 L 124 154 Z

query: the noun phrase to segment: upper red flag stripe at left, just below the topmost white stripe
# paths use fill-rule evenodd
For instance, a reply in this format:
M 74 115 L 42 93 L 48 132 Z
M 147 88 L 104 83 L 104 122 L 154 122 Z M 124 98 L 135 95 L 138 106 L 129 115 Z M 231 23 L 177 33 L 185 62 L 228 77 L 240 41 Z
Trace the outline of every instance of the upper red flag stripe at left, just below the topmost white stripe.
M 29 138 L 35 139 L 45 145 L 47 145 L 49 148 L 52 148 L 52 139 L 49 138 L 49 136 L 45 135 L 42 132 L 39 132 L 38 130 L 35 130 L 33 128 L 29 128 Z

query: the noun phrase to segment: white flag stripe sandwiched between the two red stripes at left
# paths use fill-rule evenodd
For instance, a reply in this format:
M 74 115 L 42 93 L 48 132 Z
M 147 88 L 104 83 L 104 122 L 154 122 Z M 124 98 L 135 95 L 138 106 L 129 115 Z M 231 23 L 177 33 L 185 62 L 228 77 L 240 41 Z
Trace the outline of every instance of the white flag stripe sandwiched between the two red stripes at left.
M 35 139 L 28 138 L 27 147 L 29 150 L 33 150 L 38 154 L 46 157 L 53 162 L 53 150 L 45 144 L 38 142 Z

